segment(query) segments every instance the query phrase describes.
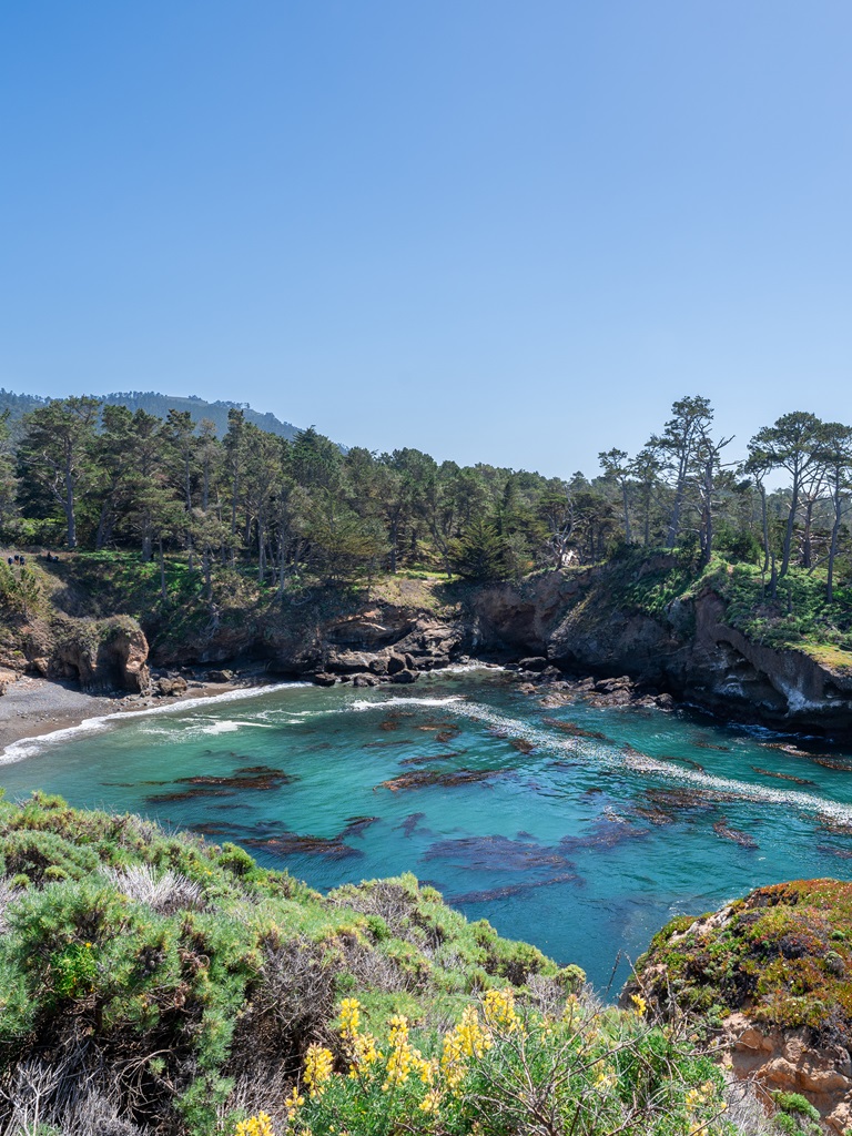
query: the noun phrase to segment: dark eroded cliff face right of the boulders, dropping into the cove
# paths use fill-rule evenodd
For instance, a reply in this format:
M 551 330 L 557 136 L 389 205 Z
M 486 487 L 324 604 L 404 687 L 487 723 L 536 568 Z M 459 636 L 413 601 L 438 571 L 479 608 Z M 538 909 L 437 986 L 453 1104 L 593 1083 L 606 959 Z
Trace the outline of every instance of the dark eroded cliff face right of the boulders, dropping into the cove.
M 484 590 L 475 610 L 485 648 L 541 653 L 576 674 L 629 675 L 729 718 L 792 730 L 852 729 L 852 673 L 751 642 L 729 625 L 712 591 L 651 618 L 619 604 L 604 566 Z

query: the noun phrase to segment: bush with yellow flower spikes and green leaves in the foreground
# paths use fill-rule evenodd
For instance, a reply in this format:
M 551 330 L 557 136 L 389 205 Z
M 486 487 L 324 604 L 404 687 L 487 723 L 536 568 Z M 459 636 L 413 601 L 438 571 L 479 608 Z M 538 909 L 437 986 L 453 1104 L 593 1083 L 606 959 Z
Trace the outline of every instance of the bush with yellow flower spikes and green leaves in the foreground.
M 379 1041 L 362 1006 L 343 1000 L 337 1058 L 308 1051 L 304 1096 L 293 1089 L 277 1136 L 722 1136 L 724 1079 L 671 1029 L 571 996 L 560 1016 L 519 1011 L 490 989 L 443 1037 L 411 1039 L 395 1014 Z M 267 1119 L 262 1113 L 253 1121 Z M 244 1122 L 245 1124 L 245 1122 Z M 237 1129 L 267 1136 L 267 1129 Z

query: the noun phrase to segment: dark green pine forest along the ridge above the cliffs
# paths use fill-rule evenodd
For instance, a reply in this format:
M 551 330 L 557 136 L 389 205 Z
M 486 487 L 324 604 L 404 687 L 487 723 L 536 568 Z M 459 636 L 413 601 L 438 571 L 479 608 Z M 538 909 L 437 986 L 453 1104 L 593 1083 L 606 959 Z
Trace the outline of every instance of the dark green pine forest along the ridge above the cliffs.
M 39 404 L 15 431 L 9 418 L 0 540 L 132 553 L 159 565 L 164 603 L 177 566 L 212 604 L 216 582 L 237 575 L 284 600 L 386 574 L 517 582 L 666 549 L 682 584 L 736 565 L 750 618 L 780 620 L 792 640 L 804 618 L 811 638 L 849 648 L 852 428 L 807 411 L 761 428 L 735 462 L 709 400 L 683 398 L 638 453 L 610 448 L 594 476 L 567 478 L 343 451 L 314 427 L 272 434 L 235 406 L 224 434 L 186 410 L 87 396 Z

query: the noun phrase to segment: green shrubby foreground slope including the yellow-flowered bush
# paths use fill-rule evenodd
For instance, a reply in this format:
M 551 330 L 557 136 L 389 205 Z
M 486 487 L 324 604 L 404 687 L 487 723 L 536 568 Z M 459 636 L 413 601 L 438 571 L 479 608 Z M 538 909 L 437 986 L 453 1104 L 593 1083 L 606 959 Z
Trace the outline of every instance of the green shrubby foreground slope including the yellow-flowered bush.
M 0 863 L 7 1133 L 765 1130 L 641 996 L 601 1008 L 411 876 L 321 896 L 41 794 L 0 803 Z

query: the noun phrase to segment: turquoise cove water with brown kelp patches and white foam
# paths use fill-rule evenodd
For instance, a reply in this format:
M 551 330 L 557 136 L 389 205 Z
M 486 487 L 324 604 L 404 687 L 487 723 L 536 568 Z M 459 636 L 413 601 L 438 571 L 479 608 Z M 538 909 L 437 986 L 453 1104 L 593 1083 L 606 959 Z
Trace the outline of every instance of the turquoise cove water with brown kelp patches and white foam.
M 601 989 L 674 914 L 852 872 L 852 752 L 686 711 L 545 708 L 495 670 L 187 702 L 3 760 L 12 797 L 141 812 L 319 888 L 412 871 Z

